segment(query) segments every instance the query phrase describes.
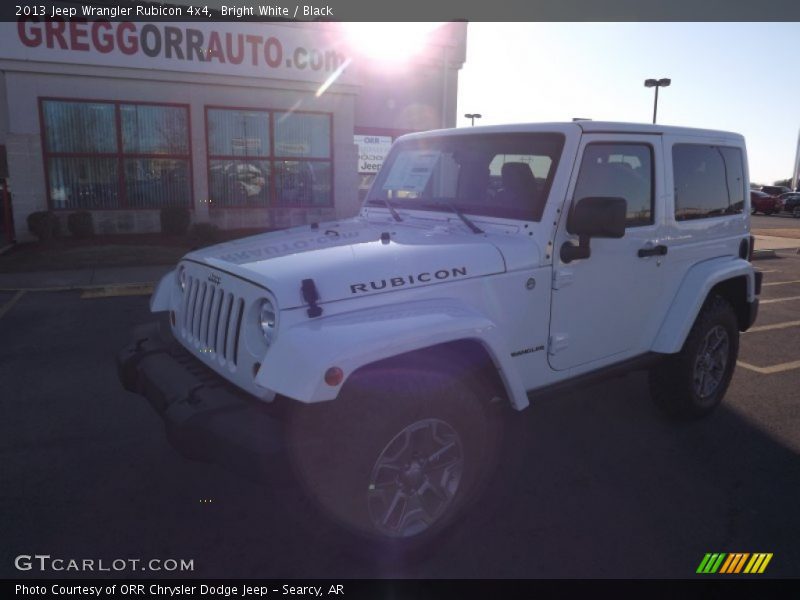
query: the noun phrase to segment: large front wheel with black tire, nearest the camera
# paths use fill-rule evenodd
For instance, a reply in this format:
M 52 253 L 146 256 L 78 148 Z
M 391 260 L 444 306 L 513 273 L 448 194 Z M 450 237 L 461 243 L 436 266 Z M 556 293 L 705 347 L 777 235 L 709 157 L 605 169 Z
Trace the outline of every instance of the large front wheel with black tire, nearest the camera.
M 481 390 L 446 370 L 355 373 L 335 401 L 292 411 L 287 443 L 295 474 L 360 553 L 407 556 L 451 525 L 494 472 L 502 411 Z M 401 510 L 411 496 L 427 519 Z

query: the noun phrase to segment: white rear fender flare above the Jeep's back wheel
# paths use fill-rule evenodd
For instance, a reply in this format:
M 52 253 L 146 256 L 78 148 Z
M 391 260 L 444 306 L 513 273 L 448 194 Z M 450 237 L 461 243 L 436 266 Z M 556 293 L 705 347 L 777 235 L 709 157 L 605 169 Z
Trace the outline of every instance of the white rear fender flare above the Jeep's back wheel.
M 752 302 L 756 297 L 755 273 L 746 260 L 726 256 L 694 265 L 683 278 L 661 323 L 653 351 L 665 354 L 679 352 L 711 289 L 718 283 L 742 276 L 747 277 L 747 301 Z

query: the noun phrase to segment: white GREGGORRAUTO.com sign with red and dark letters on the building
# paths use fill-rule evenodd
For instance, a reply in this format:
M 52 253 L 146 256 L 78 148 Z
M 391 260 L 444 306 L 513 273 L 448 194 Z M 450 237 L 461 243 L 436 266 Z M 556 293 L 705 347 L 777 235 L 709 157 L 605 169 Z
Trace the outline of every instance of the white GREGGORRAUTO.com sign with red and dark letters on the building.
M 353 83 L 333 24 L 0 23 L 0 59 Z M 348 77 L 350 75 L 350 77 Z

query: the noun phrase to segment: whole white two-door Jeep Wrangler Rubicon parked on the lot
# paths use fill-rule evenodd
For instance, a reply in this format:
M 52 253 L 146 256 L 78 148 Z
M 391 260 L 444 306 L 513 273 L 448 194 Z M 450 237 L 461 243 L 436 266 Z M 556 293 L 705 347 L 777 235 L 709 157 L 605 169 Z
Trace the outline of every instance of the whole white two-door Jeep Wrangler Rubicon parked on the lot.
M 187 254 L 150 301 L 169 327 L 137 332 L 120 378 L 185 452 L 257 422 L 351 532 L 424 543 L 534 393 L 646 368 L 671 415 L 720 403 L 760 293 L 748 190 L 732 133 L 404 136 L 355 218 Z

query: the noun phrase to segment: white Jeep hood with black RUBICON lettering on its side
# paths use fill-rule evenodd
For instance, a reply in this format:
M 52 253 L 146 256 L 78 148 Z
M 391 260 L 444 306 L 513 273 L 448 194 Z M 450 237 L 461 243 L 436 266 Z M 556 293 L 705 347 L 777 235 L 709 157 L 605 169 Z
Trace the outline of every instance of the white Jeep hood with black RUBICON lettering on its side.
M 265 233 L 191 252 L 185 260 L 269 289 L 281 309 L 307 305 L 304 279 L 314 280 L 324 304 L 505 271 L 503 255 L 486 236 L 363 219 Z

